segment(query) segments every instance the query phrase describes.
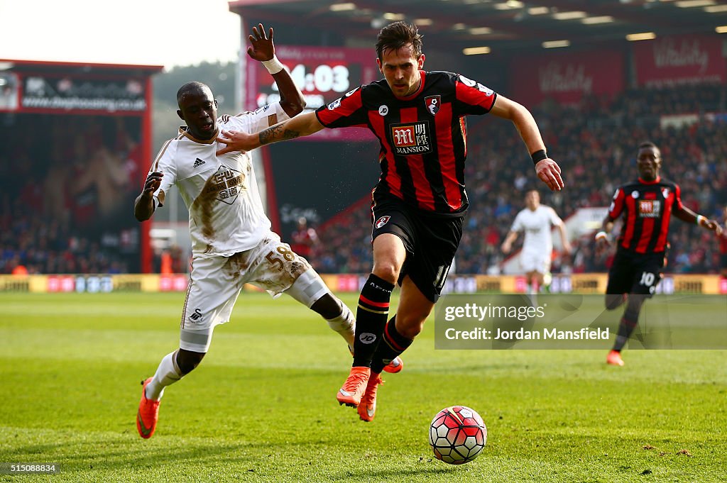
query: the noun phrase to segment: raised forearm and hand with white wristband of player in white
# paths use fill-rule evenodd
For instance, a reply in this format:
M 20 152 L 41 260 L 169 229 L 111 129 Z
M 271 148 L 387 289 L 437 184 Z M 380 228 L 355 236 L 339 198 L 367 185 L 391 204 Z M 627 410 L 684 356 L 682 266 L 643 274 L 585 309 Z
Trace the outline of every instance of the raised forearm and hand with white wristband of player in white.
M 287 115 L 293 117 L 303 112 L 305 107 L 305 98 L 302 92 L 295 85 L 290 73 L 275 56 L 275 44 L 273 43 L 273 28 L 265 33 L 262 23 L 252 28 L 252 33 L 248 36 L 250 46 L 247 48 L 247 54 L 254 60 L 262 62 L 268 69 L 270 75 L 278 84 L 278 92 L 280 92 L 280 105 Z

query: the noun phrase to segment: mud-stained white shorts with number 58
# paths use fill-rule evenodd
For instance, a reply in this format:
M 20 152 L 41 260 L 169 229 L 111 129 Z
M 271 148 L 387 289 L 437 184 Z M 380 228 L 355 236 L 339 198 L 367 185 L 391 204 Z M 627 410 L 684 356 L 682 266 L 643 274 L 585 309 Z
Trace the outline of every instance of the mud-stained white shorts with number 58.
M 244 284 L 268 291 L 273 298 L 288 293 L 310 306 L 329 289 L 308 261 L 269 232 L 254 248 L 233 256 L 198 257 L 192 262 L 182 309 L 180 348 L 207 352 L 215 325 L 230 320 Z

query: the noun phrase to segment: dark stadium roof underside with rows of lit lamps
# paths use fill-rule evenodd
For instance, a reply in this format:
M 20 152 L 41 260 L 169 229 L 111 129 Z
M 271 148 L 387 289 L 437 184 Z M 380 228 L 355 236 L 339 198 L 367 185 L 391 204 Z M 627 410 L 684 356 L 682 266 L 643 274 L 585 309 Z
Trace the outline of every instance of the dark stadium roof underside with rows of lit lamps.
M 614 44 L 639 33 L 714 34 L 727 25 L 727 0 L 236 0 L 229 5 L 246 23 L 318 28 L 368 41 L 383 25 L 407 20 L 422 28 L 427 45 L 487 46 L 492 53 L 542 49 L 554 41 L 560 43 L 547 45 Z

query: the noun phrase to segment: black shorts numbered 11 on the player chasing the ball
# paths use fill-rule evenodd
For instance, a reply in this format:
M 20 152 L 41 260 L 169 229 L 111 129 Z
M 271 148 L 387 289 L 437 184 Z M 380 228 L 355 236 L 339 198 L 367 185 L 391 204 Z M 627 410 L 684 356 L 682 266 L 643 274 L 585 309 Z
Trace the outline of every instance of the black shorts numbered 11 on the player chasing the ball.
M 462 239 L 463 217 L 422 214 L 397 199 L 377 203 L 373 215 L 371 240 L 382 233 L 392 233 L 401 238 L 406 248 L 398 284 L 409 275 L 427 299 L 436 302 Z

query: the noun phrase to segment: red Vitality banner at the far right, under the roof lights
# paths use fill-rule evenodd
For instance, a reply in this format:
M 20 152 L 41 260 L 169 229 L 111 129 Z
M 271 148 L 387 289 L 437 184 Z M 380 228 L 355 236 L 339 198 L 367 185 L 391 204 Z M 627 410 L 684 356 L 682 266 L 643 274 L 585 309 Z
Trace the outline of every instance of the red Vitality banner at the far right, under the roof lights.
M 672 87 L 724 82 L 725 60 L 718 36 L 672 36 L 632 46 L 639 86 Z

